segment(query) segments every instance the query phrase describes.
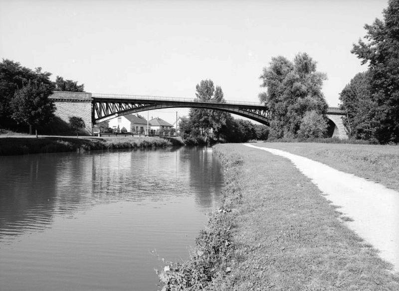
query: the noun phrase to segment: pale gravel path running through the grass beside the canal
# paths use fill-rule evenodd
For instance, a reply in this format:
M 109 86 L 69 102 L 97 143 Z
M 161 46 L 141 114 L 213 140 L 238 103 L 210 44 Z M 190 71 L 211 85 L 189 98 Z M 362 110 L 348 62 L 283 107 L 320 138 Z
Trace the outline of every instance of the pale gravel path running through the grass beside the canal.
M 399 271 L 399 193 L 364 178 L 282 150 L 248 147 L 289 159 L 340 207 L 345 224 L 380 251 Z M 267 145 L 266 145 L 267 146 Z

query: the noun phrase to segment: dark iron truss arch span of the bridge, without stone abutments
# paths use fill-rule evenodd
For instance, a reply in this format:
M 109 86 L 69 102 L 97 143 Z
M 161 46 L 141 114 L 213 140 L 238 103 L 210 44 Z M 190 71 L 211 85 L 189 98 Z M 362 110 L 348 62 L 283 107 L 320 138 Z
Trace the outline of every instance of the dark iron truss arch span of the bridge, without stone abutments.
M 92 100 L 93 124 L 140 111 L 190 107 L 229 112 L 269 125 L 267 107 L 262 103 L 256 102 L 227 101 L 225 103 L 208 103 L 200 102 L 195 98 L 95 93 L 92 94 Z

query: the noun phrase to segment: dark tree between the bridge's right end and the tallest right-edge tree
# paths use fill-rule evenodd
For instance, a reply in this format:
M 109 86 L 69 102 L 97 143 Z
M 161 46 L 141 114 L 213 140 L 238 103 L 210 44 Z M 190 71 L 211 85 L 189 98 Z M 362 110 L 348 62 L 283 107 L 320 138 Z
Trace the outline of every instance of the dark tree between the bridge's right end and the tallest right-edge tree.
M 340 107 L 347 114 L 343 123 L 350 137 L 372 137 L 370 112 L 375 104 L 370 97 L 370 90 L 370 73 L 367 71 L 356 74 L 340 93 Z

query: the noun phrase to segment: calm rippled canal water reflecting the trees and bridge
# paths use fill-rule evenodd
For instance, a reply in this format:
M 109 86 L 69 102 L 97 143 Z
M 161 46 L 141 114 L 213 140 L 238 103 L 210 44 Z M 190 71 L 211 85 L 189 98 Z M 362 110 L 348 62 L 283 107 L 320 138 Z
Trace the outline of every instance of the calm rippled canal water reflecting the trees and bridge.
M 158 290 L 222 183 L 206 147 L 0 157 L 0 290 Z

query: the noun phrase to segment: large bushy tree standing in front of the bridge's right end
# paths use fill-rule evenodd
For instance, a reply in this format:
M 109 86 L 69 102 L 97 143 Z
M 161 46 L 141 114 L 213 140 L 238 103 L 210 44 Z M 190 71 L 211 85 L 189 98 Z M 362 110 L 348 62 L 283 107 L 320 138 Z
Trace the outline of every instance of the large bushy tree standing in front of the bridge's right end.
M 261 87 L 267 88 L 259 99 L 269 108 L 271 138 L 296 137 L 310 111 L 322 116 L 312 120 L 322 120 L 320 128 L 326 128 L 328 106 L 321 91 L 326 75 L 316 71 L 316 62 L 307 53 L 298 53 L 293 62 L 283 56 L 273 57 L 260 79 Z

